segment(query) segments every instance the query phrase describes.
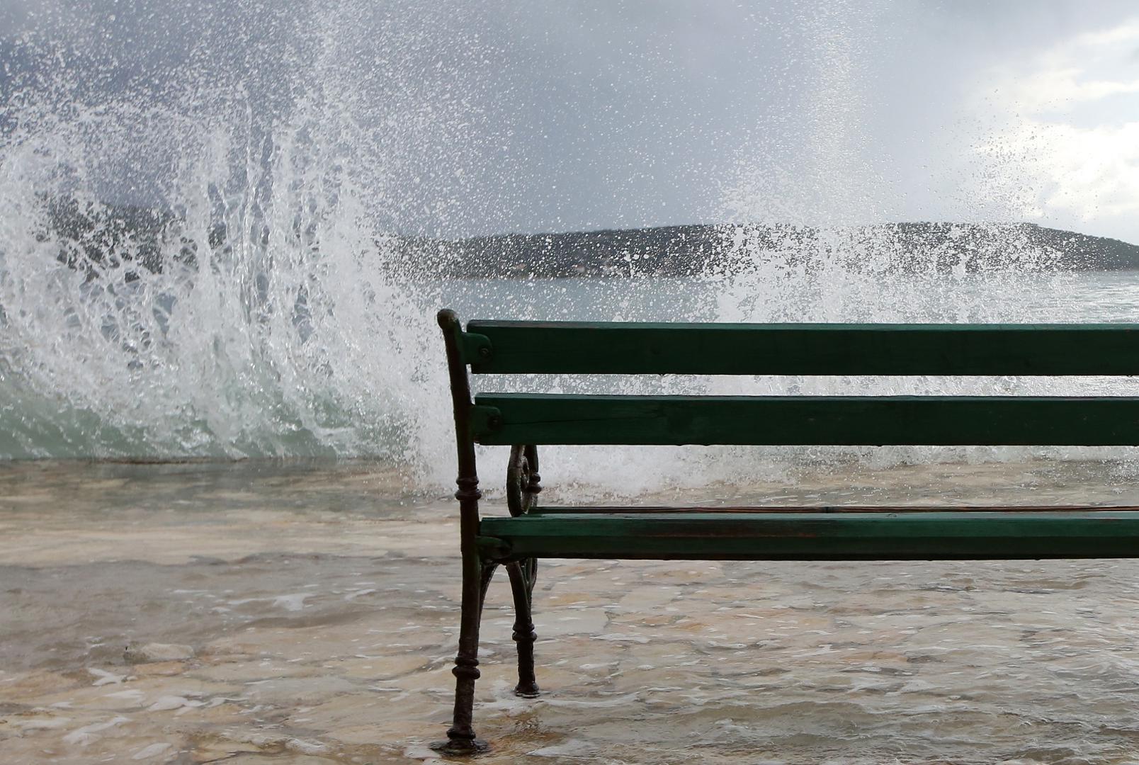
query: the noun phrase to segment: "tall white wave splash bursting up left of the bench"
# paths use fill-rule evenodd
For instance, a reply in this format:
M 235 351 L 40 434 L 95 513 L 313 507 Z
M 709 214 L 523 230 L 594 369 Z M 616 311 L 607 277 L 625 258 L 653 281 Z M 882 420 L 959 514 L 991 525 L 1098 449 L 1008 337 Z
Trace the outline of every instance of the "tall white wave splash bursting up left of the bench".
M 0 162 L 3 456 L 415 460 L 441 381 L 423 361 L 437 299 L 394 275 L 377 221 L 398 212 L 391 145 L 446 124 L 399 99 L 399 126 L 354 110 L 337 52 L 353 40 L 328 41 L 342 31 L 248 54 L 311 74 L 272 83 L 301 88 L 286 105 L 245 79 L 91 105 L 66 69 L 17 99 Z M 140 241 L 100 198 L 108 167 L 121 186 L 147 162 L 169 163 L 150 191 L 173 212 Z

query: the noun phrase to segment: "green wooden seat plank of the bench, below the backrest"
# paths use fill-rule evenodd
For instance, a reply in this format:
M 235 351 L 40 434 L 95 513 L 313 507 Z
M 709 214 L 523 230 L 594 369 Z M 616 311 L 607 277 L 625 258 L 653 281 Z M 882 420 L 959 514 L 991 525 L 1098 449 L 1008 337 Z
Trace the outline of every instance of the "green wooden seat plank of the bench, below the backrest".
M 1139 558 L 1139 512 L 558 513 L 484 518 L 502 558 Z

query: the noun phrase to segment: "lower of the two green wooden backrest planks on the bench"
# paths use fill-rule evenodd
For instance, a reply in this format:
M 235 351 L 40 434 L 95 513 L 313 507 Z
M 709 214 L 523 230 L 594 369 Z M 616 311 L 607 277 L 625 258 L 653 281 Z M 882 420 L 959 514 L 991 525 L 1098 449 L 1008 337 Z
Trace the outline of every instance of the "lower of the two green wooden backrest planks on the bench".
M 1139 398 L 484 394 L 482 444 L 1139 445 Z

